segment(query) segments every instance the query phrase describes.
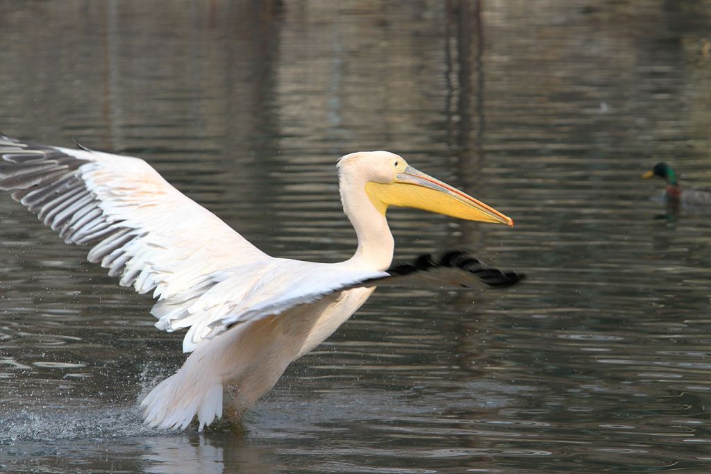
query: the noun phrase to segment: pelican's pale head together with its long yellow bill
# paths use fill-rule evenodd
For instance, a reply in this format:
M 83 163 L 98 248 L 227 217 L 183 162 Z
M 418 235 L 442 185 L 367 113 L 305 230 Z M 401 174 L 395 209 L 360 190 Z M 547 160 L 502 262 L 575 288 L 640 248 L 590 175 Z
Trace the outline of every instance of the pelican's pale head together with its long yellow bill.
M 342 182 L 365 186 L 380 214 L 391 205 L 437 212 L 465 220 L 506 224 L 513 220 L 470 195 L 432 178 L 389 151 L 360 151 L 338 161 Z

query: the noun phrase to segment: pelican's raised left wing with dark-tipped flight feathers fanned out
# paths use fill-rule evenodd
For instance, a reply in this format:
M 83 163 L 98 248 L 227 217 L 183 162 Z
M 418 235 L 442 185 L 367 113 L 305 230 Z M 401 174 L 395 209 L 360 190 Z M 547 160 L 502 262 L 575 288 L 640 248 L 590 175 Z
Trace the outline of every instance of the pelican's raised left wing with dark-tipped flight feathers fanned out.
M 218 269 L 272 257 L 130 156 L 28 144 L 0 135 L 0 189 L 36 212 L 120 284 L 172 301 Z

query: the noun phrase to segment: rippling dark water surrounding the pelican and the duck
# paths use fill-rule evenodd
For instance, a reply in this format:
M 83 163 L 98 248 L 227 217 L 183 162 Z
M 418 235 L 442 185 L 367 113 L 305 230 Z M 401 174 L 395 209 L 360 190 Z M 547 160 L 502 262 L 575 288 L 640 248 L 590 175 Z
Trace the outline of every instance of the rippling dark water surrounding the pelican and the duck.
M 516 222 L 396 210 L 396 260 L 530 276 L 380 289 L 243 431 L 165 433 L 137 401 L 181 337 L 5 196 L 0 470 L 711 470 L 711 213 L 669 220 L 638 179 L 711 184 L 708 2 L 3 2 L 0 25 L 7 134 L 146 158 L 321 262 L 355 248 L 336 158 L 395 151 Z

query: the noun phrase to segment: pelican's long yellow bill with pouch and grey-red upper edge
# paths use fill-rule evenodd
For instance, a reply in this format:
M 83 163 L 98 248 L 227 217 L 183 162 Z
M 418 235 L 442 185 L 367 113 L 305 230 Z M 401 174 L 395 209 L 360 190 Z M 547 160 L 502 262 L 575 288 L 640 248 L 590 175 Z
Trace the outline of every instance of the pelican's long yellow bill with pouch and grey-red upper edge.
M 370 182 L 365 185 L 365 190 L 383 214 L 388 205 L 395 205 L 513 227 L 510 217 L 412 166 L 407 166 L 390 183 Z

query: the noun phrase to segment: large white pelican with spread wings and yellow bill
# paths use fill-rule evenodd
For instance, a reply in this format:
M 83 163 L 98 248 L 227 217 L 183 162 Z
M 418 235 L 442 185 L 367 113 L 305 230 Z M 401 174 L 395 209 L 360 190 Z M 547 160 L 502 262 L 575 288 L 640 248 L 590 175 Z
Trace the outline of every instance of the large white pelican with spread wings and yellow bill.
M 269 392 L 289 363 L 328 338 L 375 286 L 436 281 L 508 286 L 504 273 L 450 252 L 393 266 L 389 206 L 513 226 L 470 195 L 387 151 L 338 160 L 343 210 L 358 237 L 345 262 L 270 257 L 173 188 L 146 161 L 83 146 L 29 144 L 0 134 L 0 189 L 65 242 L 92 244 L 88 260 L 122 286 L 153 292 L 156 327 L 186 329 L 178 372 L 141 402 L 146 424 L 200 431 L 225 412 L 235 419 Z M 223 402 L 223 392 L 230 389 Z

